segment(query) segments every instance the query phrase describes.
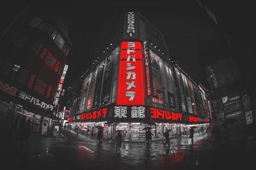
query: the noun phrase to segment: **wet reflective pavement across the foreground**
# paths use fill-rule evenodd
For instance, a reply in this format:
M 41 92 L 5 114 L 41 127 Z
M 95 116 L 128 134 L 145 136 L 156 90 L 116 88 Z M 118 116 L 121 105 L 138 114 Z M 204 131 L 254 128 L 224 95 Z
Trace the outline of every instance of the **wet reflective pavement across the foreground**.
M 13 137 L 1 137 L 1 166 L 6 169 L 255 169 L 255 138 L 232 140 L 213 148 L 211 136 L 196 133 L 174 137 L 170 148 L 163 141 L 124 143 L 116 153 L 115 142 L 61 130 L 56 138 L 31 134 L 24 146 Z

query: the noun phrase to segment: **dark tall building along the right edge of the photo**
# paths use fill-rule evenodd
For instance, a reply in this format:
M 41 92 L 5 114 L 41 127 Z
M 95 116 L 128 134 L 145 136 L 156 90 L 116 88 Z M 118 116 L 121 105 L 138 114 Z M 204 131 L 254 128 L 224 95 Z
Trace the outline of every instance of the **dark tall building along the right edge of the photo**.
M 209 22 L 212 39 L 209 42 L 200 42 L 200 61 L 204 66 L 205 75 L 209 82 L 212 106 L 218 120 L 234 119 L 230 125 L 230 134 L 246 134 L 247 130 L 255 127 L 255 111 L 252 104 L 252 90 L 248 88 L 244 79 L 244 68 L 236 60 L 236 52 L 232 42 L 218 24 L 215 15 L 204 1 L 196 0 Z M 236 47 L 237 49 L 241 47 Z M 239 56 L 241 60 L 241 56 Z

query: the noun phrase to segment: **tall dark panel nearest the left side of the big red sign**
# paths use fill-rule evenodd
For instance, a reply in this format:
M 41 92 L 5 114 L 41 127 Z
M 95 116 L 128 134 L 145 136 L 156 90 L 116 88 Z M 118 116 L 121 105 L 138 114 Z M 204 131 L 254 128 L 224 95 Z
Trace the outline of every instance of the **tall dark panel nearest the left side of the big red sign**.
M 113 66 L 114 66 L 115 50 L 106 58 L 106 67 L 102 84 L 102 99 L 104 104 L 111 101 L 111 87 L 113 82 Z

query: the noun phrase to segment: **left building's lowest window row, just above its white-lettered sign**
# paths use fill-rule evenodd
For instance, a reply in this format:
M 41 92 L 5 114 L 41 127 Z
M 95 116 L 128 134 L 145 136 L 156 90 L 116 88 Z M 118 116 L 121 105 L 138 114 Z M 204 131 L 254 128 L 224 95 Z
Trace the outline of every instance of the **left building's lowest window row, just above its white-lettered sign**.
M 12 81 L 16 81 L 22 86 L 27 86 L 45 98 L 54 99 L 56 89 L 52 88 L 50 84 L 46 84 L 26 68 L 20 68 L 17 65 L 13 66 L 12 63 L 3 61 L 3 59 L 0 60 L 0 68 L 1 76 L 9 77 Z

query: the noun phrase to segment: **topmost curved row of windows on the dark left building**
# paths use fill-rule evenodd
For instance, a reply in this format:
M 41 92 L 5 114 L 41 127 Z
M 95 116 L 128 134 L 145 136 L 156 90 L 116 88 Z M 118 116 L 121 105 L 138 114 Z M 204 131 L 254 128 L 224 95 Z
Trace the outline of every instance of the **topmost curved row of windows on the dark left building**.
M 29 22 L 29 26 L 36 27 L 46 31 L 49 35 L 51 35 L 52 40 L 54 40 L 54 42 L 60 48 L 60 50 L 62 50 L 62 52 L 66 56 L 68 55 L 70 48 L 68 47 L 67 43 L 60 35 L 60 33 L 58 33 L 58 31 L 51 23 L 46 23 L 44 20 L 35 17 Z

